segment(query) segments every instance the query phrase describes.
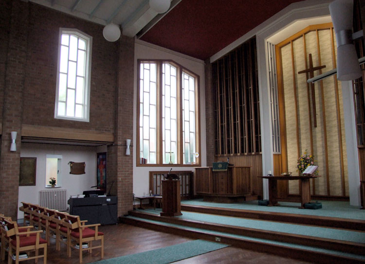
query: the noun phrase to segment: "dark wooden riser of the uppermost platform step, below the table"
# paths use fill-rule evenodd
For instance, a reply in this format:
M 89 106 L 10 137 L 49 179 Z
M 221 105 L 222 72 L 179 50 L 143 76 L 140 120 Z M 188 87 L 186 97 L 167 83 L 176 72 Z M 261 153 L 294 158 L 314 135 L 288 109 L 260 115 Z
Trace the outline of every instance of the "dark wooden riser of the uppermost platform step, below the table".
M 359 219 L 337 218 L 337 217 L 283 213 L 283 212 L 226 209 L 226 208 L 185 205 L 185 204 L 181 205 L 181 210 L 234 216 L 241 218 L 268 220 L 275 222 L 292 223 L 292 224 L 365 231 L 365 220 L 359 220 Z

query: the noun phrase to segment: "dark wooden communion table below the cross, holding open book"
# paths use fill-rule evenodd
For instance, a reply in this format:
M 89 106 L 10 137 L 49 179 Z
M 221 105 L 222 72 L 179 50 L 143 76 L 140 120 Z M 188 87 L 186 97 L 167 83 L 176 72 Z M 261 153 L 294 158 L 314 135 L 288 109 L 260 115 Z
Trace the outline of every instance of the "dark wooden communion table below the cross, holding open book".
M 304 204 L 310 202 L 310 179 L 317 176 L 258 176 L 269 180 L 269 205 L 276 206 L 280 201 L 300 202 L 300 209 L 304 209 Z M 299 180 L 299 194 L 300 199 L 296 198 L 279 198 L 277 195 L 277 181 L 278 180 Z

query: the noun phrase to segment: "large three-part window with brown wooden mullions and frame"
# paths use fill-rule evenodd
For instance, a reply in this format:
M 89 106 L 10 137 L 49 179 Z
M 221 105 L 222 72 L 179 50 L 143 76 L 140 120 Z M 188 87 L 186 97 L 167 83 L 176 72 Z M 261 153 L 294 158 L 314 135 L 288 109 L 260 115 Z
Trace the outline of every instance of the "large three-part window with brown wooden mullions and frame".
M 198 76 L 167 61 L 138 61 L 137 164 L 199 164 Z

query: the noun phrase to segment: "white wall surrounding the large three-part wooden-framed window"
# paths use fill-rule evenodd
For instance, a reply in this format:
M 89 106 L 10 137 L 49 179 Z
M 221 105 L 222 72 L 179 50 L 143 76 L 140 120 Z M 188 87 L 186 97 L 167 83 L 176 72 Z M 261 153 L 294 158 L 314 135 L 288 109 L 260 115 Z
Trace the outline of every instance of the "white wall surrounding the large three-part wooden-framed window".
M 134 46 L 134 109 L 133 109 L 133 135 L 137 129 L 137 59 L 170 59 L 188 70 L 200 76 L 200 130 L 201 130 L 201 166 L 206 166 L 206 140 L 205 140 L 205 84 L 204 84 L 204 62 L 202 60 L 176 53 L 159 46 L 147 43 L 142 40 L 135 40 Z M 133 138 L 133 146 L 136 146 L 136 136 Z M 133 149 L 133 193 L 137 196 L 148 194 L 148 172 L 168 171 L 170 167 L 137 167 L 136 152 Z M 172 171 L 194 171 L 193 167 L 172 167 Z

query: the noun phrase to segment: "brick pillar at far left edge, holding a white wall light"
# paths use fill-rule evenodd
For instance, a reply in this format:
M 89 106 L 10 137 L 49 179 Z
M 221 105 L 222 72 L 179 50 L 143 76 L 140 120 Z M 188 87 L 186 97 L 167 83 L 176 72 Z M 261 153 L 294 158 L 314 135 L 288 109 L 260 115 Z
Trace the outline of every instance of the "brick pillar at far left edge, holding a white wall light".
M 0 158 L 0 212 L 17 219 L 23 88 L 27 59 L 29 5 L 12 1 L 6 58 Z M 17 151 L 10 151 L 17 131 Z

